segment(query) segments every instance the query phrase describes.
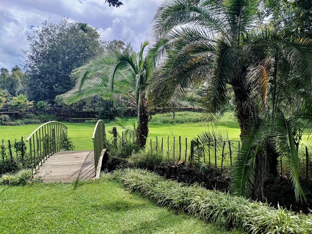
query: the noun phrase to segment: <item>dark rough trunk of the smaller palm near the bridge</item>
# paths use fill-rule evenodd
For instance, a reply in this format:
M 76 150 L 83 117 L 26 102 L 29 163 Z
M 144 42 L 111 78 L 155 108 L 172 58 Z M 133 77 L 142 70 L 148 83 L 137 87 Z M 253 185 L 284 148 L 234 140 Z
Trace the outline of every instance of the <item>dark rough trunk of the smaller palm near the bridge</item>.
M 140 121 L 136 130 L 136 144 L 141 148 L 146 145 L 146 139 L 149 134 L 149 112 L 147 109 L 146 99 L 142 98 L 140 103 Z

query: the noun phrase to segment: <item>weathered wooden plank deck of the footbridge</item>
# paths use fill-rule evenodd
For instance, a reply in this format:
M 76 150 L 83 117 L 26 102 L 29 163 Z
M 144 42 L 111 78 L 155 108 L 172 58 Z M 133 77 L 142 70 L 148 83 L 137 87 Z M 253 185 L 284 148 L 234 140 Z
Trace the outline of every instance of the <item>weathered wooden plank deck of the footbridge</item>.
M 41 177 L 43 182 L 73 182 L 76 179 L 87 180 L 95 176 L 94 152 L 62 151 L 50 156 L 35 177 Z

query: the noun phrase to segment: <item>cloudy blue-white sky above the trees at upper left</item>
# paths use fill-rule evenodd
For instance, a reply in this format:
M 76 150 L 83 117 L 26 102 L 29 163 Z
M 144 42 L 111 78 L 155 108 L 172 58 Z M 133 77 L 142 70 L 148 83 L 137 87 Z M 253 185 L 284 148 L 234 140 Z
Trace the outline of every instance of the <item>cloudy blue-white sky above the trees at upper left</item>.
M 49 17 L 52 23 L 62 17 L 87 23 L 99 29 L 102 40 L 127 39 L 139 50 L 161 0 L 121 1 L 124 5 L 115 8 L 105 0 L 0 0 L 0 68 L 22 67 L 20 55 L 29 46 L 27 32 L 32 35 L 31 30 Z

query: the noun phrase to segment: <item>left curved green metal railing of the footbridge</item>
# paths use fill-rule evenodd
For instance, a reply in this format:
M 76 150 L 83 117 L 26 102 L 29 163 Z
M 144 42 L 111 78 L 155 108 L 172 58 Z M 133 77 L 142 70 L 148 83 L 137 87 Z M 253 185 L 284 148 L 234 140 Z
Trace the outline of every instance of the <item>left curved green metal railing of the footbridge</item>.
M 30 156 L 32 159 L 32 172 L 37 173 L 39 167 L 52 154 L 61 151 L 64 147 L 64 134 L 67 127 L 58 121 L 42 124 L 28 136 Z

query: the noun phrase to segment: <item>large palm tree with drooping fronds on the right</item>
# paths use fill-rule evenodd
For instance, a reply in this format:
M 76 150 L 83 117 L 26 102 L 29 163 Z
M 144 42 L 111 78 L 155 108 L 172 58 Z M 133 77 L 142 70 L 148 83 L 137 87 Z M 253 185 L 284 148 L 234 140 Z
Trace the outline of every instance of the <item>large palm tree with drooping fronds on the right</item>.
M 227 96 L 233 92 L 244 149 L 236 160 L 234 171 L 239 173 L 233 173 L 233 188 L 241 195 L 260 200 L 269 145 L 278 155 L 290 159 L 288 169 L 296 196 L 303 194 L 298 155 L 293 151 L 292 130 L 297 128 L 288 128 L 285 143 L 282 127 L 272 128 L 269 137 L 261 126 L 263 122 L 286 126 L 278 107 L 287 103 L 286 94 L 311 96 L 312 41 L 288 37 L 266 23 L 271 9 L 265 4 L 272 2 L 172 0 L 161 4 L 152 20 L 152 52 L 158 62 L 152 79 L 154 102 L 168 100 L 177 89 L 205 80 L 208 88 L 202 102 L 208 112 L 217 113 L 227 106 Z M 288 69 L 283 71 L 282 67 Z M 285 71 L 292 75 L 283 74 Z M 283 81 L 286 76 L 288 79 Z M 296 76 L 300 79 L 294 79 Z

